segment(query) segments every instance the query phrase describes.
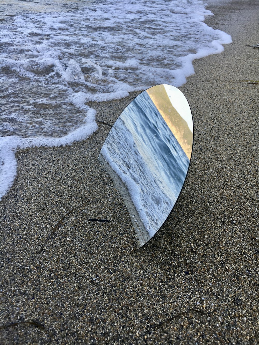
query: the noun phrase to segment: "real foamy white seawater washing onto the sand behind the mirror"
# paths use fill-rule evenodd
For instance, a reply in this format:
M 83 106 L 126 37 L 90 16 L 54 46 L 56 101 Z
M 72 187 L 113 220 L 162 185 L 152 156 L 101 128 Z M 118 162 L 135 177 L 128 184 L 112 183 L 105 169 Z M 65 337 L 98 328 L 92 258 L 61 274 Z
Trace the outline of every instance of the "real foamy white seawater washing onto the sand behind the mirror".
M 208 27 L 197 0 L 4 0 L 0 6 L 0 198 L 17 148 L 89 137 L 87 101 L 160 83 L 179 87 L 192 61 L 231 37 Z

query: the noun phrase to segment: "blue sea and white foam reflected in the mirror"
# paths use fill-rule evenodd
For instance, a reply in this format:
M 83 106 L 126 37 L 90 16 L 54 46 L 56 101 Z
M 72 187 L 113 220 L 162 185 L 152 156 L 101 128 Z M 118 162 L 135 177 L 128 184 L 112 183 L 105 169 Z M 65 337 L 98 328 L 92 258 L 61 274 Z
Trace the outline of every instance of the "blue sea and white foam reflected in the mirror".
M 117 119 L 101 154 L 127 186 L 152 237 L 180 194 L 190 160 L 146 91 Z

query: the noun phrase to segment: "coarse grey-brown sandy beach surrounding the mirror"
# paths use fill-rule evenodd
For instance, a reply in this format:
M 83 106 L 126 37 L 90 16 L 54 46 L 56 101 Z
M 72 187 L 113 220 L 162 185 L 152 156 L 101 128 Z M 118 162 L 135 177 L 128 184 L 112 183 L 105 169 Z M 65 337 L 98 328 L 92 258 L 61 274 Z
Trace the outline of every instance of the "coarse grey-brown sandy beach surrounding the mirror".
M 17 151 L 0 201 L 1 344 L 256 344 L 258 3 L 208 7 L 232 36 L 194 61 L 180 89 L 194 120 L 191 165 L 162 229 L 134 229 L 97 162 L 111 127 L 87 140 Z M 113 124 L 127 98 L 91 103 Z M 88 220 L 88 219 L 99 219 Z

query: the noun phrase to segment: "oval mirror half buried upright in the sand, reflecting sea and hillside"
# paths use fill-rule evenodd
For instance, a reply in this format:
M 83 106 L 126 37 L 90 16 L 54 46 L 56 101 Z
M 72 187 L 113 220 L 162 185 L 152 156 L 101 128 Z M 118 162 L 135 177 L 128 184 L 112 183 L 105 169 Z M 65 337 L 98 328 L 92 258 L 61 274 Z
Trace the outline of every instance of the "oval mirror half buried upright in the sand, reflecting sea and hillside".
M 188 101 L 174 86 L 153 86 L 118 117 L 98 160 L 111 175 L 143 246 L 161 228 L 182 190 L 193 147 Z

